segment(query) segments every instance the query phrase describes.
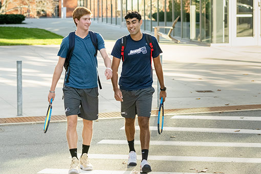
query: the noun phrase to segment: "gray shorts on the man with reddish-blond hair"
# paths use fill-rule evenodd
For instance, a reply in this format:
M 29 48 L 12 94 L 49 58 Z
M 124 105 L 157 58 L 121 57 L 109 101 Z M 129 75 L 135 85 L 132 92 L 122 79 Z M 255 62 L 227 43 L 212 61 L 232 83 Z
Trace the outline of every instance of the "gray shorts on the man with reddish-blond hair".
M 76 89 L 64 86 L 62 90 L 66 116 L 78 115 L 85 120 L 98 119 L 98 88 Z

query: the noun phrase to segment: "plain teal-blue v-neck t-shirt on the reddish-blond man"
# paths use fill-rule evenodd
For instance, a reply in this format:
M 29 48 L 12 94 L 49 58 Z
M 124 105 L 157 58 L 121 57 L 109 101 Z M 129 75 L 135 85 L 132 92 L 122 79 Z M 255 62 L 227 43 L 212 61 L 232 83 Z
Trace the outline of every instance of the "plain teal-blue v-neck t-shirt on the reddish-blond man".
M 101 50 L 105 48 L 104 40 L 99 33 L 96 34 L 98 50 Z M 58 56 L 66 58 L 68 49 L 69 35 L 62 39 Z M 95 48 L 90 34 L 88 33 L 85 38 L 75 35 L 75 47 L 69 64 L 69 82 L 64 85 L 77 89 L 90 89 L 98 86 L 98 63 L 94 54 Z

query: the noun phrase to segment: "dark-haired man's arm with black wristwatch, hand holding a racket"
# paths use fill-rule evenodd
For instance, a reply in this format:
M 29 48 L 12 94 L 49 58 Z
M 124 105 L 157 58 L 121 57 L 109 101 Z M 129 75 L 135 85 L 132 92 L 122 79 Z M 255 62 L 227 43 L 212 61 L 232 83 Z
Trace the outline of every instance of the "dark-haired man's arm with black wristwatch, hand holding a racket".
M 160 88 L 163 89 L 165 87 L 165 85 L 164 85 L 162 65 L 161 65 L 161 62 L 160 62 L 160 55 L 156 58 L 153 58 L 153 62 L 154 62 L 156 74 L 157 74 L 159 82 L 160 82 Z M 160 92 L 160 98 L 161 97 L 163 97 L 163 102 L 164 102 L 165 98 L 167 97 L 166 91 Z

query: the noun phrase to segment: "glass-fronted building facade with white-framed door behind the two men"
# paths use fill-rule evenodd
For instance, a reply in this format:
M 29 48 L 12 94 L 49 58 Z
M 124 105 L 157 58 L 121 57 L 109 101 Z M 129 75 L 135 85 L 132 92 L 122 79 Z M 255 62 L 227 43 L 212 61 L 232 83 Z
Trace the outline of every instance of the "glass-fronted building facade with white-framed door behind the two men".
M 64 0 L 66 1 L 66 0 Z M 172 26 L 173 35 L 207 45 L 261 45 L 260 0 L 78 0 L 94 13 L 94 20 L 125 25 L 127 11 L 137 10 L 143 30 Z M 167 33 L 165 29 L 161 32 Z

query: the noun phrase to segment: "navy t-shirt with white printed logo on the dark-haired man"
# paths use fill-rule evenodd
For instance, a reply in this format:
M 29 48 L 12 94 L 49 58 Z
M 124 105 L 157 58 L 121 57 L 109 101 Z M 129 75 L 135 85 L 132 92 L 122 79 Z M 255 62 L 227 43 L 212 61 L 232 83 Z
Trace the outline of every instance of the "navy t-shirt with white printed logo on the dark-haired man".
M 153 54 L 156 58 L 162 53 L 156 37 L 152 36 Z M 121 58 L 121 39 L 114 45 L 112 56 Z M 150 62 L 150 47 L 147 45 L 145 34 L 141 40 L 135 41 L 126 36 L 126 48 L 124 49 L 124 61 L 119 80 L 120 89 L 133 91 L 149 88 L 153 83 L 153 72 Z

